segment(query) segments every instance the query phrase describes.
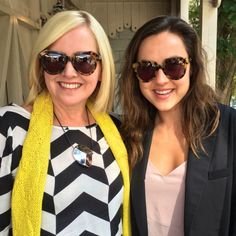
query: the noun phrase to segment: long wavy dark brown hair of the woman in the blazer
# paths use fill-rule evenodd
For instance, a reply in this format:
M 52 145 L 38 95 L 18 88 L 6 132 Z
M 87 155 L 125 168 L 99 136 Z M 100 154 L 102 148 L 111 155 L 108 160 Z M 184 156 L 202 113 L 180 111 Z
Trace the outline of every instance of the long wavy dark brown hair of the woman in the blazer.
M 196 156 L 204 150 L 202 140 L 218 126 L 219 111 L 216 95 L 206 83 L 206 53 L 196 31 L 184 20 L 174 16 L 156 17 L 137 30 L 130 41 L 120 79 L 123 108 L 122 136 L 127 146 L 131 168 L 143 154 L 142 141 L 147 129 L 154 125 L 156 108 L 141 94 L 139 82 L 132 69 L 144 39 L 161 32 L 178 35 L 185 45 L 190 63 L 190 87 L 182 102 L 182 131 Z

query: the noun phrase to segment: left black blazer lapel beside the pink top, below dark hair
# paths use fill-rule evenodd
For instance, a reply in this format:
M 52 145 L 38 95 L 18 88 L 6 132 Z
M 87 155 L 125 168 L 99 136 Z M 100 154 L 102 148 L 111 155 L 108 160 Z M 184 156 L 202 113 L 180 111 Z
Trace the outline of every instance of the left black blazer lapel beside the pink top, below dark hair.
M 141 161 L 135 166 L 131 178 L 131 201 L 133 217 L 136 221 L 140 235 L 148 235 L 146 199 L 145 199 L 145 174 L 152 141 L 153 130 L 148 130 L 144 138 L 144 154 Z

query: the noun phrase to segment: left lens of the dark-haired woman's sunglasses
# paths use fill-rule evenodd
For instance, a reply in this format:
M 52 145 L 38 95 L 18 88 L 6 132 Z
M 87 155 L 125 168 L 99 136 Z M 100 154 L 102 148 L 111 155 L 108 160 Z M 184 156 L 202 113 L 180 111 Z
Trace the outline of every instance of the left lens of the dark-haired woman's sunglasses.
M 150 62 L 139 62 L 136 73 L 143 82 L 149 82 L 155 76 L 155 68 Z

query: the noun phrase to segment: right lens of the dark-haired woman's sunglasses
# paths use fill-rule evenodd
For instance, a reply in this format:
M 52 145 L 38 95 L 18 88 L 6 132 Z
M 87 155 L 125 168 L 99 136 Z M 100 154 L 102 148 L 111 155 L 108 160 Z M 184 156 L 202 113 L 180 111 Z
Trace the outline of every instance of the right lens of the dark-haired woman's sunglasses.
M 165 61 L 163 69 L 166 76 L 170 79 L 178 80 L 181 79 L 186 72 L 186 64 L 183 58 L 169 58 Z

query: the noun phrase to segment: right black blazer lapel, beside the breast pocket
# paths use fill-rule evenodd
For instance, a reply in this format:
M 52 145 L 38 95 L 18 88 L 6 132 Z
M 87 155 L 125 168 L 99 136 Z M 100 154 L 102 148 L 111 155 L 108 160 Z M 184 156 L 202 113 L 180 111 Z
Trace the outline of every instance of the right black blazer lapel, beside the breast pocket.
M 208 171 L 215 147 L 216 135 L 207 138 L 203 145 L 208 154 L 200 153 L 199 158 L 190 151 L 187 161 L 185 184 L 184 231 L 189 235 L 194 215 L 198 209 L 201 195 L 208 180 Z

